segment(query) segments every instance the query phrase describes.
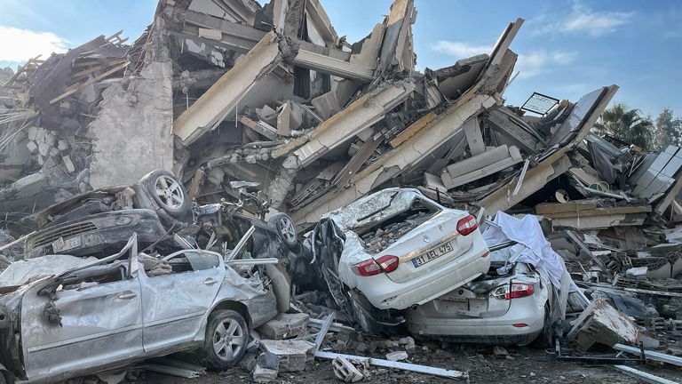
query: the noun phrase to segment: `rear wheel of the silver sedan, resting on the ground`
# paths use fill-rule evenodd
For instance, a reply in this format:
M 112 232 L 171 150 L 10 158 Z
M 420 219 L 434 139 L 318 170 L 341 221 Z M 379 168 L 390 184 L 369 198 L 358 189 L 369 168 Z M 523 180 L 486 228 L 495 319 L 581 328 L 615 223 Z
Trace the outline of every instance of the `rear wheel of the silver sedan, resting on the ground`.
M 206 338 L 201 350 L 202 364 L 226 371 L 239 362 L 249 343 L 249 327 L 238 312 L 220 309 L 212 313 L 206 325 Z

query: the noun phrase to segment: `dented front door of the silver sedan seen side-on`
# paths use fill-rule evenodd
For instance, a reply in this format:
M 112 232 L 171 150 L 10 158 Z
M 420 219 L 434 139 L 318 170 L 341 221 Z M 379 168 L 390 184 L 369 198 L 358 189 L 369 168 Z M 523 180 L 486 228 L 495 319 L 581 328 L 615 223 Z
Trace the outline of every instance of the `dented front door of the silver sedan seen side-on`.
M 30 380 L 74 377 L 143 356 L 142 297 L 131 265 L 136 252 L 26 292 L 21 346 Z

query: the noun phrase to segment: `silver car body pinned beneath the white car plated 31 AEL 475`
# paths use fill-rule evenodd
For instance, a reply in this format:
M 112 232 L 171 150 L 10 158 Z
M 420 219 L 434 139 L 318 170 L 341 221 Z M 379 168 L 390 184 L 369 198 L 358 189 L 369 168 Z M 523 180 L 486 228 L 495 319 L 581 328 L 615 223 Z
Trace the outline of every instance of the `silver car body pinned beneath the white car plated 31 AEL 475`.
M 408 331 L 416 339 L 452 340 L 496 345 L 526 345 L 543 336 L 552 342 L 551 310 L 557 294 L 549 276 L 512 255 L 528 252 L 522 244 L 490 247 L 488 274 L 470 284 L 408 309 Z M 570 293 L 567 311 L 584 303 Z

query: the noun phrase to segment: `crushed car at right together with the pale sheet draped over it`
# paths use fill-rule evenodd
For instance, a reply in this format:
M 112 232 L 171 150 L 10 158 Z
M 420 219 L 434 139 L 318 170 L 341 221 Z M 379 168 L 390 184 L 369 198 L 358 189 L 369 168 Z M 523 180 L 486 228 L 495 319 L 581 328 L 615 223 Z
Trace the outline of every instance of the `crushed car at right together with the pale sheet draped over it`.
M 487 224 L 488 273 L 410 308 L 408 332 L 422 340 L 493 345 L 527 345 L 542 336 L 541 344 L 551 346 L 558 320 L 582 312 L 588 300 L 548 248 L 534 217 L 521 220 L 498 212 L 496 222 Z M 572 292 L 563 296 L 562 289 Z

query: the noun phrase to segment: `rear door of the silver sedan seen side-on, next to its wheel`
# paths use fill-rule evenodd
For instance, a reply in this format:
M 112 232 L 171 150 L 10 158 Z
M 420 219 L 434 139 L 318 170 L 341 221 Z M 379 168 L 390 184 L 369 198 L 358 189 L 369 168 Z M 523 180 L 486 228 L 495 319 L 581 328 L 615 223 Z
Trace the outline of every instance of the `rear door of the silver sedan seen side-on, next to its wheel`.
M 194 342 L 226 274 L 222 256 L 216 252 L 184 250 L 164 260 L 171 264 L 171 274 L 139 274 L 147 354 L 178 350 Z

